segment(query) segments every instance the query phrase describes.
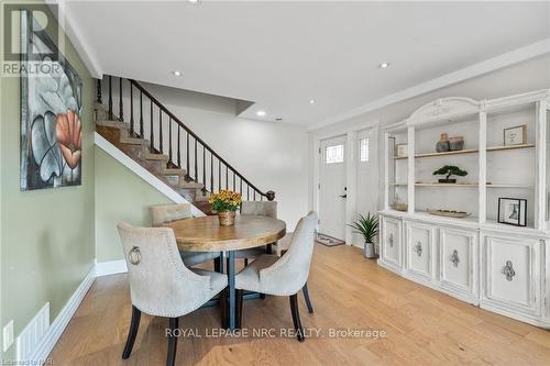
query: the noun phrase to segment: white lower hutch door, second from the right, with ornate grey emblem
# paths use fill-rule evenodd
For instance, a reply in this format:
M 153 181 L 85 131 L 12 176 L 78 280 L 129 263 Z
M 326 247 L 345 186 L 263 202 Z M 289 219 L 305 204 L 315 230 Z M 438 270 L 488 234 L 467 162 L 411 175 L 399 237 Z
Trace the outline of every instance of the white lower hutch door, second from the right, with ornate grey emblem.
M 443 286 L 473 293 L 475 234 L 440 230 L 440 280 Z

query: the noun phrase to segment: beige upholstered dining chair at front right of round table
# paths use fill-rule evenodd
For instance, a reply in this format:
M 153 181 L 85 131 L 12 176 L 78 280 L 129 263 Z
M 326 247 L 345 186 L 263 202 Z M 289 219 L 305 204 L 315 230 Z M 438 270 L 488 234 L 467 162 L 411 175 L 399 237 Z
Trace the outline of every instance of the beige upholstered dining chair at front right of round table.
M 263 254 L 235 276 L 238 289 L 238 323 L 242 322 L 243 290 L 289 296 L 290 311 L 298 341 L 302 342 L 304 328 L 298 312 L 297 293 L 306 286 L 314 254 L 317 213 L 301 218 L 290 239 L 288 251 L 282 257 Z

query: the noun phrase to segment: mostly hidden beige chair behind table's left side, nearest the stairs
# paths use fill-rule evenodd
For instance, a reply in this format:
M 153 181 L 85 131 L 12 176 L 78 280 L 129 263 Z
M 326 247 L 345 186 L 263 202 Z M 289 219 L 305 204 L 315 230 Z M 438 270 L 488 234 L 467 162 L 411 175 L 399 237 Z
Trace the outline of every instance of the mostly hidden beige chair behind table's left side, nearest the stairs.
M 156 204 L 151 207 L 151 217 L 153 226 L 162 226 L 165 223 L 191 219 L 191 204 L 190 203 L 170 203 L 170 204 Z M 221 262 L 219 259 L 220 253 L 217 252 L 186 252 L 179 251 L 179 255 L 184 264 L 188 267 L 215 260 L 216 271 L 221 271 Z

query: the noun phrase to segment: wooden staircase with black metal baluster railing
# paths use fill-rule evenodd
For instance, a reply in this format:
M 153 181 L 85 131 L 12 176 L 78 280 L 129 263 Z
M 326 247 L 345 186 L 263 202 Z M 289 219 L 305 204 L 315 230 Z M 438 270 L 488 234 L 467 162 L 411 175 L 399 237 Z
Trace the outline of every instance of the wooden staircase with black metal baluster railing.
M 97 80 L 96 131 L 206 214 L 212 214 L 210 193 L 222 189 L 240 192 L 243 200 L 275 199 L 274 191 L 251 184 L 135 80 Z

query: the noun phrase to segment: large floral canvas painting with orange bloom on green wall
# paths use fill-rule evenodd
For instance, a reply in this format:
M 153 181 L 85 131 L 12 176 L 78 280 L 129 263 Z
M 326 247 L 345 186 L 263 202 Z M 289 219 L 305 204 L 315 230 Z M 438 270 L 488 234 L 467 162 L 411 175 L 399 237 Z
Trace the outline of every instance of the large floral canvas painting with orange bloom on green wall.
M 30 12 L 21 19 L 21 190 L 78 186 L 82 82 Z

